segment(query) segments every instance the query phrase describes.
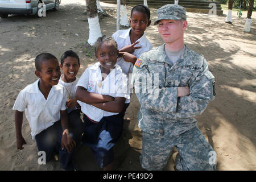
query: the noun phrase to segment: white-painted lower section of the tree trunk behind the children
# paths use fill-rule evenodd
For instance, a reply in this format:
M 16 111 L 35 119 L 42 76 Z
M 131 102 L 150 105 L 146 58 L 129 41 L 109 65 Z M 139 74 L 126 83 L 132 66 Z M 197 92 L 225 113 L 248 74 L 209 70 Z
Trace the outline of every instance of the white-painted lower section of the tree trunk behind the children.
M 88 43 L 90 46 L 93 46 L 93 44 L 96 42 L 96 40 L 102 36 L 101 34 L 101 27 L 100 23 L 98 22 L 98 15 L 94 18 L 88 18 L 89 23 L 89 39 Z

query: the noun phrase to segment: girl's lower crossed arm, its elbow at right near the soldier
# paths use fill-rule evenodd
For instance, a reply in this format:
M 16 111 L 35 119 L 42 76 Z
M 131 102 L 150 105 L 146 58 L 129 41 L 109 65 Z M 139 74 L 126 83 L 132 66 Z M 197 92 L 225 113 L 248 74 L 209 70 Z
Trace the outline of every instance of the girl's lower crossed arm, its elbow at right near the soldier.
M 124 97 L 115 97 L 114 101 L 104 102 L 104 103 L 93 103 L 91 104 L 94 107 L 99 109 L 112 112 L 112 113 L 121 113 L 123 110 L 123 106 L 125 106 L 125 98 Z

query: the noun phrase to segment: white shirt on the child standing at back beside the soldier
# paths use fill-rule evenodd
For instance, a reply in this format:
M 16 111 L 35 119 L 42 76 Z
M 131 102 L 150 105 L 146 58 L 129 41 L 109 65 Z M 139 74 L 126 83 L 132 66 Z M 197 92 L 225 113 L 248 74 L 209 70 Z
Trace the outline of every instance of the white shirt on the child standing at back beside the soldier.
M 118 50 L 121 49 L 122 47 L 125 47 L 131 44 L 130 31 L 131 31 L 131 28 L 127 30 L 118 30 L 114 32 L 114 34 L 112 35 L 112 38 L 115 39 L 115 42 L 117 42 Z M 143 52 L 149 51 L 152 48 L 152 46 L 149 40 L 146 38 L 145 33 L 137 41 L 139 41 L 139 43 L 136 44 L 135 47 L 141 46 L 142 48 L 135 49 L 133 52 L 133 55 L 139 58 L 139 56 L 141 56 Z M 133 73 L 133 64 L 130 62 L 126 62 L 123 59 L 123 57 L 119 57 L 117 59 L 117 64 L 122 68 L 123 73 L 125 73 L 127 76 L 129 73 Z

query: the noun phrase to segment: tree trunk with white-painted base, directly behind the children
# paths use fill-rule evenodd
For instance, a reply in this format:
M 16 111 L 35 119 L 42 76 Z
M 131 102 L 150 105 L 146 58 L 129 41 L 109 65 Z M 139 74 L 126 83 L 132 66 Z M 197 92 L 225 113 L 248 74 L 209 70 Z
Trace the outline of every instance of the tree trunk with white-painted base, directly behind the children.
M 96 0 L 86 0 L 86 11 L 89 24 L 88 43 L 93 46 L 96 40 L 102 36 L 101 27 L 98 21 L 98 10 Z

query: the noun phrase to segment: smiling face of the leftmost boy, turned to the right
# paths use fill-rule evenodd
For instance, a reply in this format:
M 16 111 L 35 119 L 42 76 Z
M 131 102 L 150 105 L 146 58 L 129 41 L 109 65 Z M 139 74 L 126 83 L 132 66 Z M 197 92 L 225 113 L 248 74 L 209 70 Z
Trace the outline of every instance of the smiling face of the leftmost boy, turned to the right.
M 41 71 L 35 71 L 36 76 L 44 85 L 57 85 L 60 79 L 60 66 L 56 59 L 44 60 L 41 63 Z

